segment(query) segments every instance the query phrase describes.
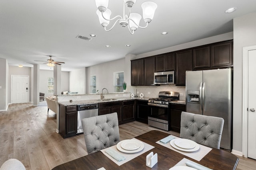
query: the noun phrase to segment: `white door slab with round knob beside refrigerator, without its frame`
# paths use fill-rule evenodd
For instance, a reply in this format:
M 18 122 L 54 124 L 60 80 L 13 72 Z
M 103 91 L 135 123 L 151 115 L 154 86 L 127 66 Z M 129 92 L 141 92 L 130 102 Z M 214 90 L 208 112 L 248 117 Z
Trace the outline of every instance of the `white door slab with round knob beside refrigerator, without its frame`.
M 248 157 L 256 159 L 256 50 L 248 51 Z

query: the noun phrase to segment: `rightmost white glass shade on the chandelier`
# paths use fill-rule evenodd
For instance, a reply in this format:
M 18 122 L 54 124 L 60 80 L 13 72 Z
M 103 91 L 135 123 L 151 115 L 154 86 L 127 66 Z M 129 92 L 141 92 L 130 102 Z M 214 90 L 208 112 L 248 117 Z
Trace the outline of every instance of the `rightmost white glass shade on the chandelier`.
M 141 4 L 143 18 L 145 22 L 151 22 L 151 20 L 154 18 L 154 14 L 157 8 L 157 4 L 154 2 L 144 2 Z

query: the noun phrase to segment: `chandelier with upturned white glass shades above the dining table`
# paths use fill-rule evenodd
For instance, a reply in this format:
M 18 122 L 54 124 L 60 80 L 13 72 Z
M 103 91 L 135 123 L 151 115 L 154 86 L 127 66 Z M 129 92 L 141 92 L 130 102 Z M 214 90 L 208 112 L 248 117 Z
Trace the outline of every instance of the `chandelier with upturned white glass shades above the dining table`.
M 96 6 L 98 10 L 96 11 L 100 24 L 102 27 L 104 27 L 105 31 L 110 31 L 117 22 L 119 22 L 122 27 L 126 27 L 128 25 L 128 29 L 131 34 L 134 34 L 134 31 L 138 27 L 140 28 L 146 28 L 148 26 L 148 23 L 150 23 L 154 17 L 155 10 L 157 8 L 157 4 L 154 2 L 144 2 L 141 5 L 142 8 L 142 14 L 144 21 L 146 23 L 146 26 L 141 27 L 140 20 L 141 20 L 141 15 L 138 13 L 130 13 L 131 8 L 134 6 L 136 3 L 136 0 L 123 0 L 123 16 L 115 16 L 114 18 L 110 19 L 111 11 L 108 9 L 108 0 L 95 0 Z M 125 14 L 125 6 L 128 7 L 128 15 Z M 117 19 L 118 18 L 118 19 Z M 107 29 L 108 24 L 110 21 L 117 19 L 112 27 L 110 29 Z

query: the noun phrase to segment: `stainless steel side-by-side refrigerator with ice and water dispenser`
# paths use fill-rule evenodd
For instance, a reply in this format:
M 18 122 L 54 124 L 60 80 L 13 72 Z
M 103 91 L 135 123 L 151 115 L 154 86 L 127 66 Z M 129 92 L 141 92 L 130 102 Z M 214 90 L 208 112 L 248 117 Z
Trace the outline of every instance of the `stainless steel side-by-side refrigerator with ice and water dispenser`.
M 222 117 L 220 147 L 232 149 L 232 68 L 186 71 L 186 111 Z

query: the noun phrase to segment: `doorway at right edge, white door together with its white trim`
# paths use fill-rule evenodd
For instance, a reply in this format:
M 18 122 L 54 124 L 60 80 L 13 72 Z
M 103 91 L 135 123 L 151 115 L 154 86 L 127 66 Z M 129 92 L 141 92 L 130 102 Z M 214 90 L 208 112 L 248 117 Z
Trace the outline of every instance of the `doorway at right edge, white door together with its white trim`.
M 243 48 L 243 135 L 242 152 L 256 159 L 256 45 Z

